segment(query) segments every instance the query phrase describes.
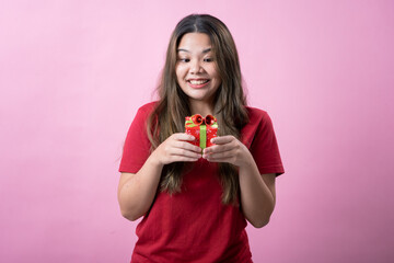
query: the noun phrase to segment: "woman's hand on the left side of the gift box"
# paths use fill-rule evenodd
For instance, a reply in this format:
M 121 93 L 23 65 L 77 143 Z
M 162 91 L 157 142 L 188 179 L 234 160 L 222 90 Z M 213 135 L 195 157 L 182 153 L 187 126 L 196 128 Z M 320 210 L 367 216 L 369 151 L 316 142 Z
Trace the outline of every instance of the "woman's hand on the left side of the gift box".
M 195 140 L 193 135 L 183 133 L 173 134 L 164 140 L 153 152 L 154 159 L 160 164 L 169 164 L 172 162 L 194 162 L 201 158 L 201 148 L 192 145 L 188 141 Z

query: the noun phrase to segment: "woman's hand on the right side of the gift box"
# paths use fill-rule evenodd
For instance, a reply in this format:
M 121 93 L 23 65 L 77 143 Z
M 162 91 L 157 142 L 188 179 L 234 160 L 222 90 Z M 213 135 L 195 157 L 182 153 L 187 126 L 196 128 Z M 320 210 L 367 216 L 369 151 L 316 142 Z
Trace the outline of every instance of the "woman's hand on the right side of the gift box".
M 215 145 L 202 151 L 202 158 L 210 162 L 229 162 L 243 167 L 253 160 L 246 146 L 232 135 L 212 138 L 211 142 Z

